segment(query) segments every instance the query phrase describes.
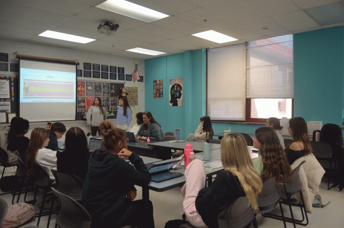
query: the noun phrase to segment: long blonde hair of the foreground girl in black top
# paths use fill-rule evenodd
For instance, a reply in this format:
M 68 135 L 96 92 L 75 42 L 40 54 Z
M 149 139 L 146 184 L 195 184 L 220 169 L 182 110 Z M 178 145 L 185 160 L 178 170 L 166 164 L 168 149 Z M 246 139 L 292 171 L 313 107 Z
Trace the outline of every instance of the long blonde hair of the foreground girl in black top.
M 223 168 L 238 177 L 250 206 L 256 212 L 258 210 L 257 195 L 263 183 L 253 168 L 246 140 L 238 133 L 227 134 L 221 140 L 220 150 Z

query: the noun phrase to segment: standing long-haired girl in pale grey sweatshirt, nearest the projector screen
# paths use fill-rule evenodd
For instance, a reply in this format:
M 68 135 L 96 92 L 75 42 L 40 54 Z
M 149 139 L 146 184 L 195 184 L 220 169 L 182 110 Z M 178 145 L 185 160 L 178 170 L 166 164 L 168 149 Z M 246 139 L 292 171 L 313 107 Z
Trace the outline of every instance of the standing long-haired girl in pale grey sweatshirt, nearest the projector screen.
M 101 105 L 100 97 L 96 96 L 94 98 L 94 102 L 92 106 L 89 107 L 86 114 L 87 124 L 91 125 L 92 136 L 96 136 L 97 131 L 98 131 L 98 135 L 100 134 L 99 125 L 105 119 L 106 119 L 106 110 L 103 107 L 103 105 Z

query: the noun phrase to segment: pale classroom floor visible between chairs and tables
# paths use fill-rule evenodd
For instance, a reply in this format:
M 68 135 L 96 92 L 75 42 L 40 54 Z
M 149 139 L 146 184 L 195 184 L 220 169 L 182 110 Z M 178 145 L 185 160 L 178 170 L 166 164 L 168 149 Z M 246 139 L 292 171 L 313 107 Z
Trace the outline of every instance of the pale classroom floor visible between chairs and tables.
M 2 172 L 2 167 L 0 167 L 0 172 Z M 6 168 L 5 175 L 14 175 L 15 169 L 14 168 Z M 141 199 L 141 187 L 136 186 L 137 188 L 137 198 Z M 307 227 L 316 228 L 316 227 L 344 227 L 343 217 L 344 217 L 344 190 L 339 191 L 338 188 L 332 188 L 330 190 L 327 189 L 327 178 L 323 177 L 322 183 L 320 185 L 320 196 L 322 198 L 322 203 L 326 204 L 328 201 L 331 201 L 329 205 L 324 208 L 313 208 L 313 213 L 308 214 L 309 224 Z M 0 190 L 0 193 L 1 190 Z M 161 193 L 155 192 L 150 190 L 149 192 L 150 200 L 153 203 L 154 208 L 154 222 L 156 228 L 163 228 L 165 226 L 165 222 L 172 219 L 182 219 L 183 209 L 182 209 L 182 202 L 183 196 L 179 188 L 174 188 L 169 191 L 164 191 Z M 6 194 L 0 196 L 1 198 L 5 199 L 9 205 L 11 205 L 12 195 Z M 33 198 L 33 193 L 28 195 L 28 198 Z M 23 197 L 20 197 L 20 202 L 23 202 Z M 285 216 L 290 217 L 289 208 L 286 205 L 283 205 L 283 211 Z M 301 213 L 300 209 L 293 207 L 293 214 L 295 218 L 300 218 Z M 36 213 L 39 212 L 38 208 L 35 208 Z M 277 206 L 274 211 L 276 213 L 279 212 L 279 207 Z M 44 216 L 41 218 L 40 227 L 45 228 L 47 225 L 48 217 Z M 264 218 L 261 215 L 257 215 L 257 222 L 259 228 L 270 228 L 270 227 L 283 227 L 283 222 Z M 37 225 L 37 218 L 35 220 L 23 227 L 26 226 L 36 226 Z M 49 227 L 55 226 L 55 215 L 52 216 L 52 220 L 50 221 Z M 251 225 L 250 227 L 253 227 Z M 293 227 L 292 223 L 287 222 L 287 227 Z M 297 227 L 303 227 L 301 225 L 297 225 Z

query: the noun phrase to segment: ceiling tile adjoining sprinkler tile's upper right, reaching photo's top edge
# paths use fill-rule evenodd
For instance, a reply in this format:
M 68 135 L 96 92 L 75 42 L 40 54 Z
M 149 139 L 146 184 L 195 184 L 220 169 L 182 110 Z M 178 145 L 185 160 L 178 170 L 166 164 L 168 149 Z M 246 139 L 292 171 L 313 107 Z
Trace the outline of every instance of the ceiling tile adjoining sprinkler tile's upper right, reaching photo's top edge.
M 238 1 L 220 1 L 214 4 L 203 6 L 202 8 L 209 10 L 221 17 L 224 17 L 235 23 L 243 23 L 252 21 L 265 16 L 250 7 Z

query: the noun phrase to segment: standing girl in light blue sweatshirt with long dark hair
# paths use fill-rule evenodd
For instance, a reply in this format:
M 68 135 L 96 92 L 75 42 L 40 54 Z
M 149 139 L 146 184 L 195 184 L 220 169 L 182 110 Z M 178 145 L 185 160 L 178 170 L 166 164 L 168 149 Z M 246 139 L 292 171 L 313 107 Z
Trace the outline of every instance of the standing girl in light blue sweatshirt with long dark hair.
M 132 111 L 127 97 L 122 97 L 119 103 L 120 106 L 117 109 L 116 127 L 127 131 L 132 121 Z

